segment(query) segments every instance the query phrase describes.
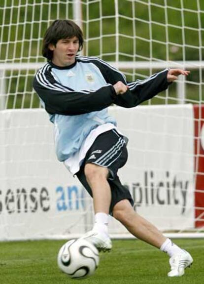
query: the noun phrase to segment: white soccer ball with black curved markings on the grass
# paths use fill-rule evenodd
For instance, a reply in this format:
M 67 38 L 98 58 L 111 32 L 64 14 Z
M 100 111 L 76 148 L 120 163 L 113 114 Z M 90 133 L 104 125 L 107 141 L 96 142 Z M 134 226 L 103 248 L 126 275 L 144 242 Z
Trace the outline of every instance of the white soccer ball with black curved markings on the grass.
M 99 265 L 99 251 L 84 240 L 70 240 L 59 250 L 59 268 L 70 278 L 86 278 L 94 274 Z

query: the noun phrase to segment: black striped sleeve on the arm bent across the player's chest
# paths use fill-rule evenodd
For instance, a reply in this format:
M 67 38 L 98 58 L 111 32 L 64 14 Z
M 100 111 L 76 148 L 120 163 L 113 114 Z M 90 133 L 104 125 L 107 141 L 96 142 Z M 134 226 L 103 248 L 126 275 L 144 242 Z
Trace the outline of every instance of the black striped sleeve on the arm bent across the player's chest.
M 111 84 L 96 91 L 74 91 L 57 82 L 49 68 L 38 71 L 33 86 L 49 114 L 80 115 L 100 111 L 111 105 L 116 96 Z

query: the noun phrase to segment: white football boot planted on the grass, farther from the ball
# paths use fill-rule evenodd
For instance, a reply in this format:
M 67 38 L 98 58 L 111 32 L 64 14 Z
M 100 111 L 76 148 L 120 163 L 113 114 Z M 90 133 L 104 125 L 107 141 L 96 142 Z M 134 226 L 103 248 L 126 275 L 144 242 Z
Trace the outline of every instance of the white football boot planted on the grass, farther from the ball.
M 182 276 L 185 269 L 193 263 L 193 258 L 186 250 L 182 249 L 181 253 L 176 253 L 170 257 L 170 272 L 169 277 Z

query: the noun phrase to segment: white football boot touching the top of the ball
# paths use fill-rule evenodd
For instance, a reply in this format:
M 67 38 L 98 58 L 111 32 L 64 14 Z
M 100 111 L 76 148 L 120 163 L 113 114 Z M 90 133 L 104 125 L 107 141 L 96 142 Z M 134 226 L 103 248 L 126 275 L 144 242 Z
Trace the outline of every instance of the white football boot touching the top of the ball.
M 85 239 L 93 243 L 99 251 L 110 251 L 112 242 L 108 235 L 102 235 L 94 230 L 87 232 L 80 239 Z

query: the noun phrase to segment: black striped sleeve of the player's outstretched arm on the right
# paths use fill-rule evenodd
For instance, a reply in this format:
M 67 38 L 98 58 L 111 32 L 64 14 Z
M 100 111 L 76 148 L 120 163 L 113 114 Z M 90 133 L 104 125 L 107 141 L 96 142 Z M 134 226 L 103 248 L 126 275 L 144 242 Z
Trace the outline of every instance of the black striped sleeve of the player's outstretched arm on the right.
M 114 85 L 118 81 L 122 81 L 129 86 L 126 93 L 117 95 L 114 99 L 114 104 L 132 108 L 142 102 L 153 98 L 159 92 L 168 88 L 167 73 L 169 69 L 165 69 L 159 73 L 153 74 L 145 80 L 137 80 L 135 82 L 127 82 L 125 76 L 116 68 L 108 65 L 102 60 L 95 59 L 94 62 L 102 72 L 107 83 Z

